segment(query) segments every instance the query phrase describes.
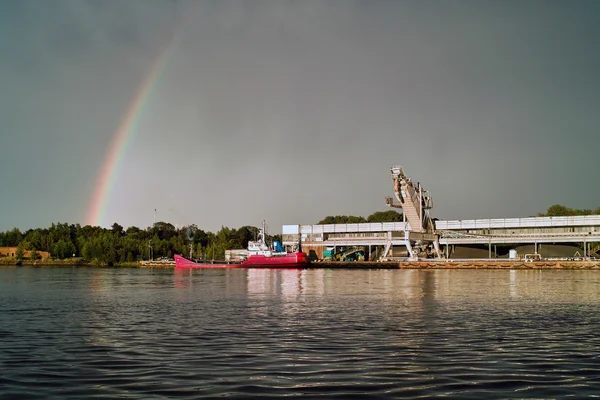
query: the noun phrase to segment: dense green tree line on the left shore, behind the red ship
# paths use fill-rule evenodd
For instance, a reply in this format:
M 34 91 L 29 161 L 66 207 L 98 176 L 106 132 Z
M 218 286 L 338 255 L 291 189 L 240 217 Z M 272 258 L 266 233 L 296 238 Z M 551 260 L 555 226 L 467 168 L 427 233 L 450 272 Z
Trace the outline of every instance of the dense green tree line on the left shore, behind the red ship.
M 54 259 L 80 258 L 85 262 L 114 265 L 116 263 L 172 258 L 174 254 L 204 259 L 223 259 L 226 249 L 246 248 L 249 240 L 256 240 L 258 228 L 243 226 L 239 229 L 221 227 L 217 233 L 204 231 L 196 225 L 176 228 L 167 222 L 156 222 L 140 229 L 126 230 L 118 223 L 110 229 L 99 226 L 58 223 L 50 228 L 18 228 L 0 232 L 0 247 L 16 247 L 15 258 L 24 254 L 39 258 L 38 251 L 47 251 Z M 269 240 L 281 240 L 278 235 Z

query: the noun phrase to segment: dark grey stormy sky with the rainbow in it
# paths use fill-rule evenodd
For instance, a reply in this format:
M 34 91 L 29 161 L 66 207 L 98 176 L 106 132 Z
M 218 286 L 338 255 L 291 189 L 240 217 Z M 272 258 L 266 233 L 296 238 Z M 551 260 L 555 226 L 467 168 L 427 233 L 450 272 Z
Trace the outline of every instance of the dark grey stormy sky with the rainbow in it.
M 5 0 L 0 231 L 600 207 L 600 2 Z

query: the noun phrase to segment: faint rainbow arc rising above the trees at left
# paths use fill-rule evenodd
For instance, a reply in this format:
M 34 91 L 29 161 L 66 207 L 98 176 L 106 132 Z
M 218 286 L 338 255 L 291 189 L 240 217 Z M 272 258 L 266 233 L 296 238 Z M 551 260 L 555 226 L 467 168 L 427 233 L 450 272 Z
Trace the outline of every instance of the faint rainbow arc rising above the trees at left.
M 150 72 L 144 77 L 139 86 L 133 101 L 131 101 L 121 118 L 117 130 L 113 134 L 112 142 L 106 154 L 106 159 L 100 168 L 98 180 L 94 186 L 93 197 L 85 218 L 85 223 L 92 226 L 101 226 L 105 222 L 106 210 L 110 203 L 112 190 L 119 176 L 119 168 L 122 164 L 127 149 L 133 142 L 138 122 L 143 114 L 145 105 L 152 95 L 152 90 L 156 87 L 160 76 L 165 70 L 169 55 L 174 48 L 176 41 L 173 35 L 171 40 L 165 45 L 164 49 L 158 55 Z

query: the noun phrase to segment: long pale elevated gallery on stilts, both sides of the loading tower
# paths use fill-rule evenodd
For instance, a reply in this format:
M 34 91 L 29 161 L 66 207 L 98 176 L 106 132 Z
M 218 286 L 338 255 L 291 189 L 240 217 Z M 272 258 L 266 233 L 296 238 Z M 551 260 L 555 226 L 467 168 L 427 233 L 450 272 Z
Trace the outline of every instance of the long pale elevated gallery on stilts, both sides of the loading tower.
M 588 249 L 586 255 L 600 254 L 600 215 L 435 221 L 435 224 L 443 246 L 580 243 Z M 284 245 L 297 244 L 301 237 L 307 247 L 366 246 L 371 254 L 381 256 L 388 255 L 392 247 L 409 248 L 416 236 L 425 235 L 411 232 L 410 223 L 405 222 L 284 225 L 282 232 Z

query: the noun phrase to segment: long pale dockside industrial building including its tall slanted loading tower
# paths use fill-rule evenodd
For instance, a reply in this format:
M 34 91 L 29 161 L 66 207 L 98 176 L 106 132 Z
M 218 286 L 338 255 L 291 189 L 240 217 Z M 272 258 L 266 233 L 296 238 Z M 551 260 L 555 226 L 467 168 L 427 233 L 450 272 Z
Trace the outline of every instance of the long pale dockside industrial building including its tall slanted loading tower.
M 417 260 L 423 258 L 588 258 L 600 253 L 600 215 L 434 220 L 433 202 L 399 166 L 391 168 L 404 222 L 283 225 L 286 246 L 302 243 L 312 259 Z M 517 251 L 519 249 L 519 251 Z

